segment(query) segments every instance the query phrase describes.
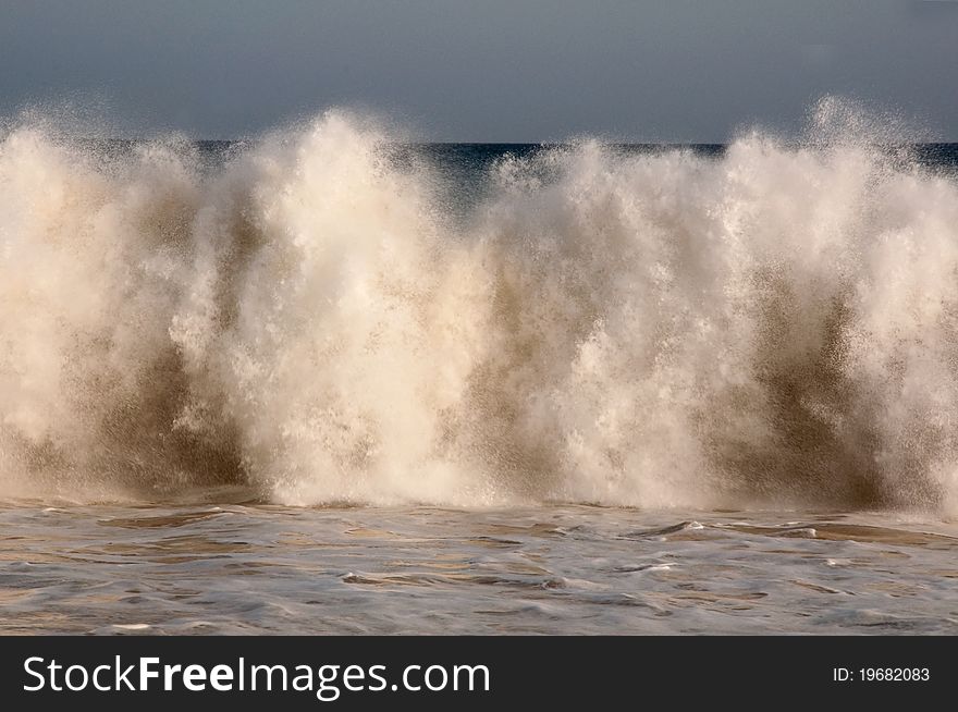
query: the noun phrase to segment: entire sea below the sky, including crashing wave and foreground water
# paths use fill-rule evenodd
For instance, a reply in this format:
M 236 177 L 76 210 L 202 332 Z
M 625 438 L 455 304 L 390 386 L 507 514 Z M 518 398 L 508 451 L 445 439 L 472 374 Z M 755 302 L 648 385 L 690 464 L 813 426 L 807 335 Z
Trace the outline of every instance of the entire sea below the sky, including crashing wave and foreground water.
M 0 134 L 0 631 L 958 627 L 958 146 Z

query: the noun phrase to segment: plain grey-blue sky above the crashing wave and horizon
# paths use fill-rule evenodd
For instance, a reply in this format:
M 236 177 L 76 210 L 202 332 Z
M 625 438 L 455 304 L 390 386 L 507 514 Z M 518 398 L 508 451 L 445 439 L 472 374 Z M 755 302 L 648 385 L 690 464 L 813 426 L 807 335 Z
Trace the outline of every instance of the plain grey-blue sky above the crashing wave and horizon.
M 0 0 L 0 115 L 72 102 L 139 133 L 345 105 L 433 140 L 717 142 L 823 94 L 958 140 L 958 2 Z

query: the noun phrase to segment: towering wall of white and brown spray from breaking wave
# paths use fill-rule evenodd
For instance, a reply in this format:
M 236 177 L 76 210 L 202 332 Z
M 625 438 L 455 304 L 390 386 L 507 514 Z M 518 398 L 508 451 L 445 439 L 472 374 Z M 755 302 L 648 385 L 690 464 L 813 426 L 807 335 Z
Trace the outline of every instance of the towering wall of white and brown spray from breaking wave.
M 465 217 L 343 112 L 212 171 L 16 127 L 4 495 L 953 508 L 958 184 L 870 126 L 506 156 Z

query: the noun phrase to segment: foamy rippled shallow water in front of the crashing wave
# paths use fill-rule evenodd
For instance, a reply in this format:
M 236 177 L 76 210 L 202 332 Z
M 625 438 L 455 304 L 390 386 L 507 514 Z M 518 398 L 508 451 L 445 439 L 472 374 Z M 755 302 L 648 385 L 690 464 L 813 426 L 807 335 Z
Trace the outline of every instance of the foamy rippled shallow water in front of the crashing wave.
M 887 514 L 0 510 L 4 634 L 949 634 L 955 526 Z

